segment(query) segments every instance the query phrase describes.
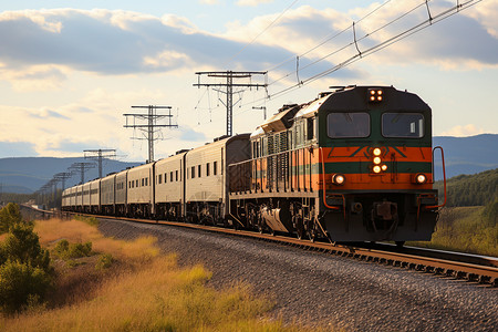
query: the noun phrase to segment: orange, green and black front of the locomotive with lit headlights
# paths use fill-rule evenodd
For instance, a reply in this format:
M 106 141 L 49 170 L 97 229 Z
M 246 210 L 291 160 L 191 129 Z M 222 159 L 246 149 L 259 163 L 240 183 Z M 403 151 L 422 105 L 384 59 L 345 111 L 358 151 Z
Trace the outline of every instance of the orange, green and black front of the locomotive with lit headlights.
M 387 86 L 331 93 L 314 112 L 320 152 L 319 219 L 335 241 L 430 240 L 432 113 Z

